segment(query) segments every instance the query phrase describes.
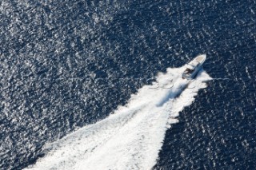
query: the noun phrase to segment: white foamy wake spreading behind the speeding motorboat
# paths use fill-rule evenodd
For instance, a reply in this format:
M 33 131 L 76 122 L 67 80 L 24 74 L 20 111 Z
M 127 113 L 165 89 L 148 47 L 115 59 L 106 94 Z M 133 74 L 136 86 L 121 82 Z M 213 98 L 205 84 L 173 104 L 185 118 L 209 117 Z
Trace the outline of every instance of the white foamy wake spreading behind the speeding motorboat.
M 194 81 L 181 78 L 184 67 L 167 69 L 145 85 L 126 106 L 46 146 L 46 156 L 26 169 L 150 169 L 156 164 L 166 129 L 206 88 L 203 70 Z

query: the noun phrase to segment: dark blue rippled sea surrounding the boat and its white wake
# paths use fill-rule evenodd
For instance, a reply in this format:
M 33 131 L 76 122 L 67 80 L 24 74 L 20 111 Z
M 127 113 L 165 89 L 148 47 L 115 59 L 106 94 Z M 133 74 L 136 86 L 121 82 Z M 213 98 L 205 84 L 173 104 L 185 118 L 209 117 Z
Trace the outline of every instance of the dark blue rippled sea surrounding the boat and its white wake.
M 255 13 L 255 1 L 2 0 L 0 168 L 34 164 L 46 142 L 206 53 L 215 79 L 166 132 L 154 168 L 254 169 Z

